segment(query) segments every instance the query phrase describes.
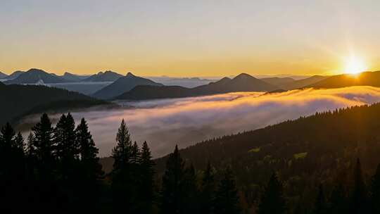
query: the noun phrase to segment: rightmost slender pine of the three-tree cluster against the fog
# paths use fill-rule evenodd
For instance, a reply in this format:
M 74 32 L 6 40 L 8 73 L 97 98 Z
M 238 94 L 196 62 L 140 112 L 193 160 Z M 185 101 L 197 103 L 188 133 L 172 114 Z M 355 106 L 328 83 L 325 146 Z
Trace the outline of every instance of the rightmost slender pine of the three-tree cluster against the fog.
M 151 151 L 144 141 L 139 155 L 140 182 L 139 182 L 139 199 L 141 201 L 140 213 L 151 213 L 152 205 L 155 198 L 154 184 L 154 161 L 152 160 Z

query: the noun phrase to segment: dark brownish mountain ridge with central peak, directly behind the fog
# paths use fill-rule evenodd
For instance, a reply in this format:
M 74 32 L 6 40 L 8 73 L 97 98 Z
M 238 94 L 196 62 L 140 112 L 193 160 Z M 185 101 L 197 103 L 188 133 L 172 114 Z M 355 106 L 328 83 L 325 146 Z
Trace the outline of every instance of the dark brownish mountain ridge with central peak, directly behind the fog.
M 144 99 L 165 99 L 180 98 L 186 96 L 202 96 L 210 94 L 222 94 L 228 92 L 271 92 L 278 87 L 256 79 L 251 75 L 242 73 L 233 79 L 224 77 L 217 82 L 201 85 L 194 88 L 179 86 L 152 86 L 139 85 L 129 92 L 125 92 L 116 99 L 144 100 Z

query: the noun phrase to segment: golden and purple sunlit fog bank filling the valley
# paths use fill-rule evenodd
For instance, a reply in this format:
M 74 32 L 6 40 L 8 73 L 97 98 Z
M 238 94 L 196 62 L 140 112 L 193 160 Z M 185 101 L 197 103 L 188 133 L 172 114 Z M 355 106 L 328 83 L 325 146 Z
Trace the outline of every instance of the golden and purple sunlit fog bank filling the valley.
M 135 108 L 82 111 L 72 115 L 77 121 L 86 118 L 100 156 L 110 155 L 115 146 L 116 131 L 124 118 L 132 139 L 139 144 L 147 141 L 157 158 L 170 153 L 175 144 L 184 148 L 204 139 L 254 130 L 316 111 L 379 101 L 379 88 L 348 87 L 277 94 L 244 92 L 185 99 L 119 101 Z

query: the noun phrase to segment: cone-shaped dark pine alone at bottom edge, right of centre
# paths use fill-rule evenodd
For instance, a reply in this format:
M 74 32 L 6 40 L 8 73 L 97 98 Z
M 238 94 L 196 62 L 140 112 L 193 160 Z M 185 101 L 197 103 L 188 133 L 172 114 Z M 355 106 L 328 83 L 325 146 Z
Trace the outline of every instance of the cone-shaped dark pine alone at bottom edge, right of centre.
M 276 173 L 270 177 L 262 199 L 258 206 L 258 214 L 286 213 L 286 202 L 283 196 L 283 186 Z

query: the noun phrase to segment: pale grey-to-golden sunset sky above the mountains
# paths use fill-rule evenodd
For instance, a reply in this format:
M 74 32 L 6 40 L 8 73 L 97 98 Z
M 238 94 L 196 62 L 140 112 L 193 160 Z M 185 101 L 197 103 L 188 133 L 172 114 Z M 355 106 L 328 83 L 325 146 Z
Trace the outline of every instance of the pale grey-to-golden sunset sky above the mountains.
M 380 70 L 380 1 L 1 0 L 0 71 L 141 76 Z

